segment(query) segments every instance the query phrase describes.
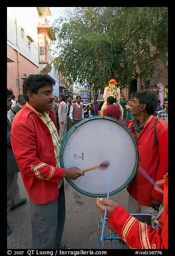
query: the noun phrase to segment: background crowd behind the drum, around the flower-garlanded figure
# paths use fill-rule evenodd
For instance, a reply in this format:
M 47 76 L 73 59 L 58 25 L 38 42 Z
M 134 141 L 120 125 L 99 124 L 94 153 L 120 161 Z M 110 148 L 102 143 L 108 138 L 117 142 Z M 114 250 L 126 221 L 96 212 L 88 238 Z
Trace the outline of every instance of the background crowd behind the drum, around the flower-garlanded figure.
M 161 106 L 161 100 L 162 100 L 162 90 L 159 89 L 159 87 L 162 88 L 162 83 L 159 83 L 157 86 L 154 87 L 151 86 L 150 91 L 155 91 L 155 94 L 158 96 L 159 94 L 161 96 L 158 96 L 158 105 L 155 110 L 154 116 L 157 116 L 158 111 L 159 115 L 157 116 L 159 118 L 163 118 L 168 122 L 168 90 L 167 86 L 165 87 L 165 93 L 164 96 L 167 98 L 164 98 L 164 103 Z M 143 86 L 141 90 L 143 90 Z M 159 93 L 158 93 L 159 92 Z M 118 83 L 115 79 L 111 79 L 108 82 L 108 87 L 105 87 L 103 98 L 104 103 L 100 102 L 100 104 L 97 102 L 97 99 L 94 98 L 93 101 L 91 98 L 88 99 L 88 103 L 86 105 L 83 105 L 82 97 L 77 96 L 75 100 L 72 100 L 72 96 L 59 96 L 59 102 L 57 99 L 57 96 L 54 97 L 54 103 L 53 103 L 53 111 L 57 120 L 57 125 L 60 130 L 61 139 L 63 139 L 65 133 L 72 127 L 72 125 L 78 123 L 84 118 L 92 117 L 92 116 L 108 116 L 115 119 L 120 120 L 125 125 L 128 125 L 128 122 L 135 118 L 134 115 L 131 113 L 132 109 L 132 101 L 134 96 L 134 91 L 132 92 L 132 98 L 127 99 L 120 94 L 120 88 L 118 87 Z M 60 103 L 62 102 L 62 97 L 64 98 L 64 104 Z M 161 98 L 161 100 L 159 99 Z M 111 101 L 113 103 L 111 103 Z M 75 103 L 75 104 L 74 104 Z M 57 106 L 56 106 L 56 105 Z M 72 105 L 74 104 L 74 105 Z M 59 110 L 60 105 L 60 110 Z M 64 108 L 62 108 L 62 105 L 64 105 Z M 68 106 L 67 110 L 65 107 Z M 115 108 L 116 106 L 116 108 Z M 74 110 L 75 108 L 75 110 Z M 78 109 L 77 109 L 78 108 Z M 62 111 L 64 109 L 64 122 L 62 117 Z M 110 111 L 112 110 L 113 111 Z M 73 118 L 73 110 L 74 110 L 74 118 Z M 79 112 L 79 116 L 75 117 L 77 115 L 77 111 Z M 67 112 L 67 116 L 65 115 Z M 81 114 L 80 114 L 81 112 Z M 119 115 L 116 114 L 116 112 L 119 112 Z M 60 113 L 60 116 L 59 116 Z M 60 118 L 59 118 L 60 117 Z M 64 132 L 62 133 L 64 126 Z M 67 126 L 67 128 L 65 128 Z M 63 134 L 63 135 L 62 135 Z

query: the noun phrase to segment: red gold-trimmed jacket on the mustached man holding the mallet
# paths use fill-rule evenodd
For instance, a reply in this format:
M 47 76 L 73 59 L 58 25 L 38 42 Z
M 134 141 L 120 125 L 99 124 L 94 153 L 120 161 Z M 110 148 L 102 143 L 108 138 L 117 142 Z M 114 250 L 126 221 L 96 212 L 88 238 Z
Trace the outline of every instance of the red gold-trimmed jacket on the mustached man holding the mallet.
M 49 116 L 55 126 L 53 110 Z M 46 204 L 59 196 L 59 181 L 64 169 L 56 167 L 52 136 L 37 111 L 27 103 L 14 117 L 11 144 L 29 198 Z

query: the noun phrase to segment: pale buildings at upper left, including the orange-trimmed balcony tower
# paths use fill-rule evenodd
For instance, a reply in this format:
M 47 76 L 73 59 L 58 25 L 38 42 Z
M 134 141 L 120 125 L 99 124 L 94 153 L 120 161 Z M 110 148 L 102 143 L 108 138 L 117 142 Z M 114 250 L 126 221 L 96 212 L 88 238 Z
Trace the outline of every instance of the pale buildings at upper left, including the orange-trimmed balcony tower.
M 55 80 L 59 97 L 59 77 L 52 66 L 52 27 L 46 16 L 49 7 L 7 8 L 7 87 L 14 95 L 23 94 L 23 82 L 30 74 L 45 73 Z

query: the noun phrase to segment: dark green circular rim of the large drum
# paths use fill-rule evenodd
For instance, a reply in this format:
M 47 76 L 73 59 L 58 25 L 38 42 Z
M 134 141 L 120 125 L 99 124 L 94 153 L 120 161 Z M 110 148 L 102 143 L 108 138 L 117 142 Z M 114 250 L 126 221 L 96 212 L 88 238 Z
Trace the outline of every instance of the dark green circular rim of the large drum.
M 61 144 L 61 148 L 60 148 L 60 166 L 61 168 L 64 168 L 64 164 L 63 164 L 63 150 L 64 150 L 64 146 L 65 146 L 65 143 L 67 142 L 70 134 L 81 124 L 85 123 L 85 122 L 89 122 L 89 120 L 92 120 L 92 119 L 108 119 L 108 120 L 112 120 L 114 121 L 115 123 L 119 123 L 120 125 L 123 126 L 123 128 L 125 130 L 128 131 L 128 133 L 130 134 L 130 137 L 132 138 L 133 142 L 134 142 L 134 147 L 135 147 L 135 152 L 136 152 L 136 159 L 135 159 L 135 165 L 134 165 L 134 168 L 133 168 L 133 172 L 132 174 L 130 175 L 129 177 L 129 181 L 127 180 L 120 188 L 110 192 L 110 196 L 112 195 L 115 195 L 116 193 L 120 192 L 122 189 L 124 189 L 126 186 L 128 186 L 128 184 L 134 179 L 134 176 L 136 174 L 136 171 L 137 171 L 137 168 L 138 168 L 138 150 L 137 150 L 137 143 L 136 143 L 136 139 L 134 137 L 134 134 L 132 133 L 132 131 L 125 125 L 123 124 L 120 120 L 118 119 L 115 119 L 113 117 L 106 117 L 106 116 L 93 116 L 93 117 L 88 117 L 88 118 L 85 118 L 81 121 L 79 121 L 77 124 L 75 124 L 74 126 L 72 126 L 68 131 L 67 133 L 65 134 L 63 140 L 62 140 L 62 144 Z M 107 193 L 105 194 L 92 194 L 92 193 L 89 193 L 89 192 L 86 192 L 80 188 L 78 188 L 68 177 L 64 177 L 64 179 L 68 182 L 68 184 L 70 184 L 70 186 L 72 188 L 74 188 L 75 190 L 77 190 L 79 193 L 83 194 L 83 195 L 86 195 L 86 196 L 90 196 L 90 197 L 106 197 L 107 196 Z

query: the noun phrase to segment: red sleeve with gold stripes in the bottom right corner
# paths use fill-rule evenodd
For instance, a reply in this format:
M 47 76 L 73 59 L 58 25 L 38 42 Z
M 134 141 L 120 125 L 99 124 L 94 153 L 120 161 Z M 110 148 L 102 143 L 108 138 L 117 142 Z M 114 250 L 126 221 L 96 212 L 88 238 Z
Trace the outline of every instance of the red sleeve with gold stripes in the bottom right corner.
M 166 177 L 163 198 L 164 211 L 158 220 L 159 229 L 138 221 L 118 205 L 110 215 L 109 224 L 132 249 L 168 248 L 168 179 Z

